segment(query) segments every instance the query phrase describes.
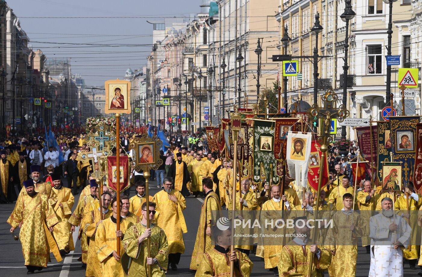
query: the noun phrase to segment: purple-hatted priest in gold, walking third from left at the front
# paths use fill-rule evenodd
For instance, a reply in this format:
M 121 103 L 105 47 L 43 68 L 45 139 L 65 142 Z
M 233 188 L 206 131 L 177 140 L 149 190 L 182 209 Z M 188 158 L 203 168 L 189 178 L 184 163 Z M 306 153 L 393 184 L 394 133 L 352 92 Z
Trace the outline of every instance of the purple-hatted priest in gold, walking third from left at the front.
M 89 188 L 90 193 L 85 194 L 82 196 L 84 190 L 86 188 Z M 95 182 L 95 179 L 89 180 L 89 186 L 87 186 L 82 190 L 81 196 L 79 196 L 78 205 L 76 205 L 76 209 L 73 211 L 72 215 L 69 218 L 69 223 L 71 224 L 70 230 L 72 232 L 75 231 L 75 227 L 81 225 L 81 221 L 83 220 L 84 216 L 84 208 L 85 206 L 89 206 L 90 203 L 97 199 L 97 183 Z M 78 261 L 81 261 L 82 263 L 86 264 L 88 261 L 88 241 L 87 241 L 87 234 L 83 231 L 83 228 L 79 229 L 79 239 L 81 240 L 81 257 L 78 259 Z

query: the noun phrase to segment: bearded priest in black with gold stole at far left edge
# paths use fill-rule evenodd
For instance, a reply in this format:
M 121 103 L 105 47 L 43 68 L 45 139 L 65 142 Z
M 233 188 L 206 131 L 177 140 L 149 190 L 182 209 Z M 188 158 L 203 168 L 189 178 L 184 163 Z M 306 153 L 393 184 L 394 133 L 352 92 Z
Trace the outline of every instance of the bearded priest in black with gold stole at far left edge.
M 6 158 L 6 151 L 0 151 L 0 203 L 12 203 L 16 200 L 16 190 L 13 185 L 13 166 Z

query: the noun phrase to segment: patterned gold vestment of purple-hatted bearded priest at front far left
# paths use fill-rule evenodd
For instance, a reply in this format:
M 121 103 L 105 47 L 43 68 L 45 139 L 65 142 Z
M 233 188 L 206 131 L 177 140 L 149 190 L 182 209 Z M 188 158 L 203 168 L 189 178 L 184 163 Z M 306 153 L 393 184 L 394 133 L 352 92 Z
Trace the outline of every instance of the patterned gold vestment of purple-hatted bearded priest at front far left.
M 40 193 L 32 197 L 27 193 L 22 195 L 16 202 L 7 223 L 17 228 L 21 221 L 19 239 L 25 266 L 47 267 L 50 260 L 49 242 L 51 242 L 47 237 L 51 236 L 47 227 L 52 227 L 59 221 L 53 207 L 49 204 L 48 197 Z M 52 237 L 51 239 L 51 243 L 54 243 L 54 239 Z M 3 250 L 7 251 L 5 248 Z

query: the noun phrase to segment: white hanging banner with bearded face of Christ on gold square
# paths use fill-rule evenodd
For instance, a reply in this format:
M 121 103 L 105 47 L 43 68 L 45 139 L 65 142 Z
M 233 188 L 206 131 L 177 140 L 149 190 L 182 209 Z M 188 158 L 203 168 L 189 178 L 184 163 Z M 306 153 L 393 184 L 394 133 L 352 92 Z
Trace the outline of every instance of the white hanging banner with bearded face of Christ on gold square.
M 306 187 L 308 183 L 308 163 L 311 153 L 311 133 L 287 134 L 286 162 L 289 167 L 290 176 L 294 176 L 296 184 Z

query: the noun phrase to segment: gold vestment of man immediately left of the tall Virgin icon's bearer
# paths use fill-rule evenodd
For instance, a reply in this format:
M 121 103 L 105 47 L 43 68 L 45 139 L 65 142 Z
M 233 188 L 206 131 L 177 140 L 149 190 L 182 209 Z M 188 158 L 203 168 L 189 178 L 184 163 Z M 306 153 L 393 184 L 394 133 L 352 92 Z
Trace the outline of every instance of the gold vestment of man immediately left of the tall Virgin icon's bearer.
M 88 258 L 87 258 L 87 271 L 85 272 L 85 276 L 87 277 L 101 277 L 101 263 L 98 260 L 97 256 L 97 243 L 95 242 L 95 235 L 97 231 L 97 222 L 101 220 L 100 217 L 100 209 L 97 208 L 96 201 L 91 201 L 87 206 L 84 208 L 84 216 L 81 222 L 82 231 L 87 235 L 88 239 Z M 104 211 L 104 219 L 111 217 L 113 212 L 110 209 Z

